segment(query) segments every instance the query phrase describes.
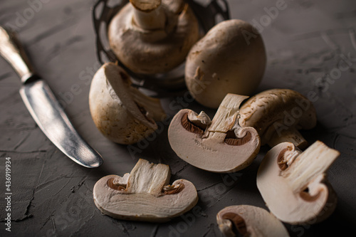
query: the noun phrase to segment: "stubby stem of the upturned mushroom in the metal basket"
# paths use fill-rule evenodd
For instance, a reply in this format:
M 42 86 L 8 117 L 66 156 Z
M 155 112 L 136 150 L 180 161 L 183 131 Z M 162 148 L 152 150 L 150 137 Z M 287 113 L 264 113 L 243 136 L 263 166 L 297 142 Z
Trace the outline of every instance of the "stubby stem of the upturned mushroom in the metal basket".
M 140 28 L 152 31 L 164 29 L 167 17 L 161 7 L 161 0 L 130 0 L 134 6 L 133 21 Z

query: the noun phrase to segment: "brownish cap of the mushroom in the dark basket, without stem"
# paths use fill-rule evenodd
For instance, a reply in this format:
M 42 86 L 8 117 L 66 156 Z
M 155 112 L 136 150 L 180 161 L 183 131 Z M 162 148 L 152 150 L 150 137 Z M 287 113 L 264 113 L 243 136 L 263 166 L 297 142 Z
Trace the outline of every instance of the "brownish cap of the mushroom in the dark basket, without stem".
M 169 18 L 175 13 L 169 11 L 172 6 L 165 6 L 165 2 L 162 1 L 160 7 Z M 132 72 L 140 74 L 164 73 L 183 63 L 199 39 L 199 23 L 188 4 L 173 17 L 178 17 L 173 20 L 177 20 L 177 25 L 167 26 L 172 28 L 169 33 L 164 29 L 147 31 L 133 25 L 133 10 L 132 4 L 124 6 L 108 27 L 110 47 L 117 58 Z

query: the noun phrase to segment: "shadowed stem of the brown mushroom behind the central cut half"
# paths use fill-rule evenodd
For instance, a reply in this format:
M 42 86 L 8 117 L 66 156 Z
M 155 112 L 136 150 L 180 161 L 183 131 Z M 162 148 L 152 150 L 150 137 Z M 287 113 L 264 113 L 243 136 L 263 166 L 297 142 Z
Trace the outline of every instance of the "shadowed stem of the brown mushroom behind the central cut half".
M 288 130 L 283 130 L 281 132 L 274 132 L 271 139 L 268 141 L 268 146 L 274 147 L 282 142 L 292 142 L 299 149 L 304 149 L 308 145 L 308 142 L 300 132 L 295 129 L 295 127 L 290 127 Z

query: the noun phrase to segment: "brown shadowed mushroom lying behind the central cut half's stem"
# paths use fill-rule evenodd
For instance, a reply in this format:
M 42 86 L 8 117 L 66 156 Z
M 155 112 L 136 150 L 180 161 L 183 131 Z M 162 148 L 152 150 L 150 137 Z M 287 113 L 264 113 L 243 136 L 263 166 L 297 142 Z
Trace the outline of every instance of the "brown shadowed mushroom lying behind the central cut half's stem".
M 261 144 L 292 142 L 303 149 L 308 142 L 298 130 L 310 130 L 317 119 L 313 103 L 295 90 L 273 89 L 254 95 L 241 105 L 241 127 L 254 127 Z

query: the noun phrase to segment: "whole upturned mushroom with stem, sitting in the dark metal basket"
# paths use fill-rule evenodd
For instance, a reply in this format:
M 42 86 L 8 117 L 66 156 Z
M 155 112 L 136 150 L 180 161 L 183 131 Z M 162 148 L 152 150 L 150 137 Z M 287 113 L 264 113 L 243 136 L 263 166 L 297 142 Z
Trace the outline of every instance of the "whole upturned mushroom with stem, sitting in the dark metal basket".
M 184 0 L 130 0 L 108 27 L 110 47 L 132 72 L 164 73 L 183 63 L 199 39 Z

